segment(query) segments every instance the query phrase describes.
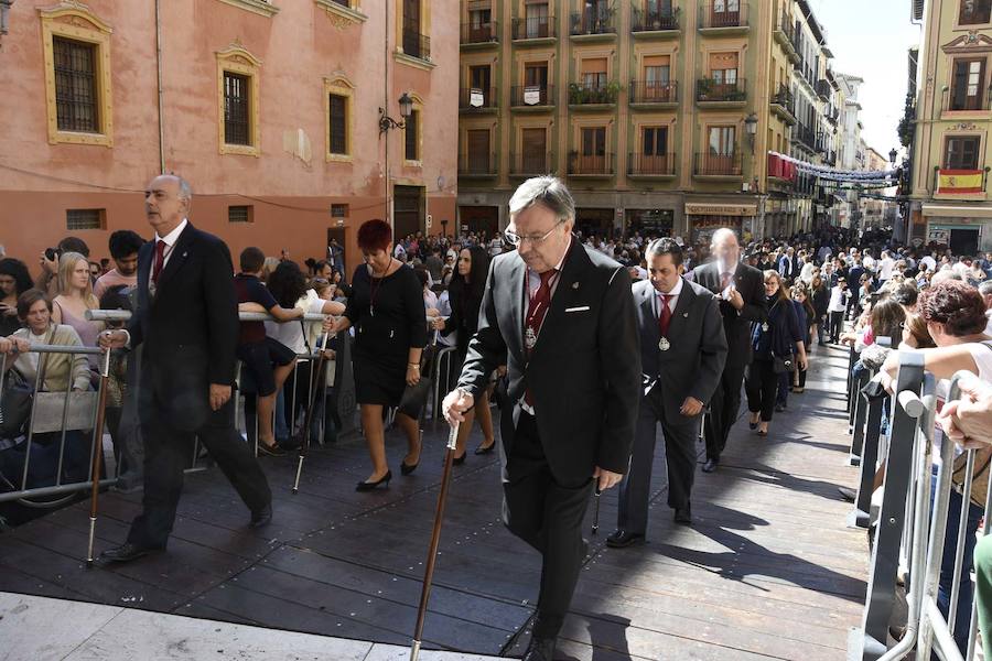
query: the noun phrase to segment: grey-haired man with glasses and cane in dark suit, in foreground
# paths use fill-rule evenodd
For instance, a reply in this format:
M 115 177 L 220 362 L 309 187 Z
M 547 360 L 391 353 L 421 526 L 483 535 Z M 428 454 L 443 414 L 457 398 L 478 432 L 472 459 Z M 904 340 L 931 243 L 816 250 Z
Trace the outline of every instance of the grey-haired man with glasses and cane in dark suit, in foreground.
M 461 422 L 493 370 L 507 365 L 504 522 L 543 560 L 524 659 L 551 661 L 585 556 L 590 495 L 627 470 L 640 350 L 630 277 L 572 235 L 575 205 L 564 185 L 528 180 L 509 213 L 506 236 L 517 250 L 493 260 L 478 332 L 443 405 L 452 424 Z

